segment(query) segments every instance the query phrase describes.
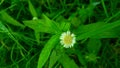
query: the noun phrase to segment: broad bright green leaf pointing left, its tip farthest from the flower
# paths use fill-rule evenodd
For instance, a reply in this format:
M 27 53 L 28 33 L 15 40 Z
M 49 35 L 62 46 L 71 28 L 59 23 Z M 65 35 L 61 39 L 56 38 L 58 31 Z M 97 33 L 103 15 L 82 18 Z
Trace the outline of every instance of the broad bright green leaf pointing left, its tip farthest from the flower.
M 36 32 L 55 33 L 54 29 L 47 25 L 43 19 L 27 20 L 23 21 L 23 23 Z

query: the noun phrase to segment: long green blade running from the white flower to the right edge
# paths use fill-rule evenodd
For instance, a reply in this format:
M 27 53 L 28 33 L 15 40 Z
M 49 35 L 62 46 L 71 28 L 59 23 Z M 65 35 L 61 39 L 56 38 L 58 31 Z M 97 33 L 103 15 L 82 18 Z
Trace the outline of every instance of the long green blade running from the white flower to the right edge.
M 110 30 L 110 29 L 118 27 L 118 26 L 120 26 L 120 20 L 115 21 L 113 23 L 104 24 L 103 26 L 96 27 L 96 29 L 94 29 L 94 30 L 89 30 L 88 29 L 89 30 L 88 32 L 77 36 L 77 40 L 82 40 L 82 39 L 89 38 L 91 36 L 94 36 L 96 34 L 102 33 L 104 31 Z

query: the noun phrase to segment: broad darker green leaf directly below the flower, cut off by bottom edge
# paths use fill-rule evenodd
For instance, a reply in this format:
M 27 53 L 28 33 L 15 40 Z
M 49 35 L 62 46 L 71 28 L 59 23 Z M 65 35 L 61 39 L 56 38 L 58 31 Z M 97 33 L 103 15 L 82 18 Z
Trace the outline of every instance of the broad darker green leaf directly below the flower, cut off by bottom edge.
M 61 56 L 59 62 L 63 65 L 64 68 L 79 68 L 74 60 L 70 59 L 66 54 Z

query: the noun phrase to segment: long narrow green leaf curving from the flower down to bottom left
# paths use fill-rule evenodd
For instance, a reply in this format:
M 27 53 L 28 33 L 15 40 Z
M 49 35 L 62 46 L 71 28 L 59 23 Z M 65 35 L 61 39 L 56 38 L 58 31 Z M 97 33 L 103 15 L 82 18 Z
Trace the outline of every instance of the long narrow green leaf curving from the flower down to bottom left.
M 46 61 L 49 58 L 49 55 L 54 48 L 54 46 L 58 43 L 58 35 L 54 35 L 50 38 L 50 40 L 46 43 L 44 48 L 42 49 L 42 52 L 40 53 L 39 60 L 38 60 L 38 66 L 37 68 L 42 68 Z

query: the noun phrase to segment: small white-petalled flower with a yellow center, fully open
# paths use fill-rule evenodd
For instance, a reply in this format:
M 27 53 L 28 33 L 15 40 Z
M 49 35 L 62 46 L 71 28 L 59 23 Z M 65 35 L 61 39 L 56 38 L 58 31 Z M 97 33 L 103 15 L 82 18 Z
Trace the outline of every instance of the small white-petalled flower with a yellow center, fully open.
M 60 36 L 60 43 L 65 48 L 71 48 L 75 44 L 75 35 L 73 33 L 70 33 L 70 31 L 64 32 Z

